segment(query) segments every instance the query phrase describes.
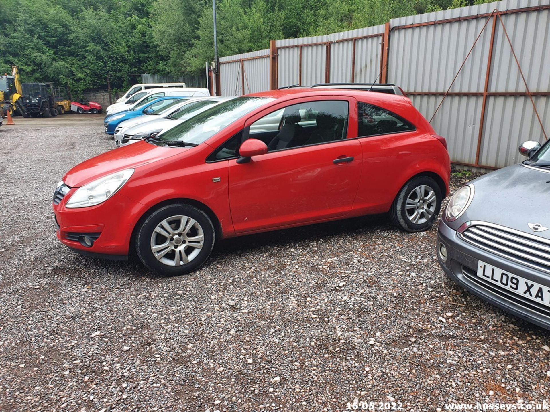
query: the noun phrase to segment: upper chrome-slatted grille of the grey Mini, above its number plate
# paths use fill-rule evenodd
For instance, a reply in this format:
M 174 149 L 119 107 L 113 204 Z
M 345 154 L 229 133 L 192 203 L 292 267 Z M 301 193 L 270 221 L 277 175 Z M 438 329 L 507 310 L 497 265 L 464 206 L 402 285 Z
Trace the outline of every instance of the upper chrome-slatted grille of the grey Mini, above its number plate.
M 460 236 L 475 246 L 550 273 L 550 240 L 494 224 L 474 224 Z

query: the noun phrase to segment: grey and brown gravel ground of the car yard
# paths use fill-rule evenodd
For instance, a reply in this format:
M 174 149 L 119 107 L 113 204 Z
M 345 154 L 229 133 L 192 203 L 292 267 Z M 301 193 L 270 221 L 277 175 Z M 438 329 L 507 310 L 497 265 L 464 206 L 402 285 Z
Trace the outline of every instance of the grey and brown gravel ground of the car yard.
M 0 129 L 0 410 L 549 400 L 550 333 L 448 280 L 436 227 L 371 216 L 241 237 L 158 277 L 56 240 L 56 182 L 113 143 L 101 119 L 36 125 Z

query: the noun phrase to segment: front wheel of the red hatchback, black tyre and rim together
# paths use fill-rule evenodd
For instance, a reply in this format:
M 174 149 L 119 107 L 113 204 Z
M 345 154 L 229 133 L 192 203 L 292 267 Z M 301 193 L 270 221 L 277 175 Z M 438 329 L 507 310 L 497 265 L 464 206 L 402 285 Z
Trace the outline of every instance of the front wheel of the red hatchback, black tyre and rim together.
M 212 220 L 204 211 L 179 203 L 147 216 L 138 229 L 135 247 L 148 269 L 164 276 L 178 276 L 196 270 L 206 261 L 215 238 Z

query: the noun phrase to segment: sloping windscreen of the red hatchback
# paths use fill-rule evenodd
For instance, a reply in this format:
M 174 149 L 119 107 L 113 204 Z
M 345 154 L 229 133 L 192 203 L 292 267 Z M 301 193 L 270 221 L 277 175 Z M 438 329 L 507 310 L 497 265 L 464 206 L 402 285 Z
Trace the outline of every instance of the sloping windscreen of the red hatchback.
M 222 102 L 162 133 L 159 140 L 200 144 L 224 127 L 273 100 L 266 97 L 239 97 Z

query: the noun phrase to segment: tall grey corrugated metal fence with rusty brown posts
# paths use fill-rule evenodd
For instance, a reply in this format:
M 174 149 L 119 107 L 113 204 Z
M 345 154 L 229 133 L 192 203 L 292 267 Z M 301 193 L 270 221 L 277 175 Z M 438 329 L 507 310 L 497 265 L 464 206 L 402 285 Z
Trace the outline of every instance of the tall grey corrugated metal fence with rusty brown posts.
M 493 13 L 493 10 L 498 10 Z M 501 23 L 502 21 L 502 23 Z M 525 140 L 550 131 L 550 0 L 505 0 L 271 42 L 220 59 L 222 96 L 320 82 L 390 82 L 428 119 L 454 163 L 500 168 L 519 162 Z

